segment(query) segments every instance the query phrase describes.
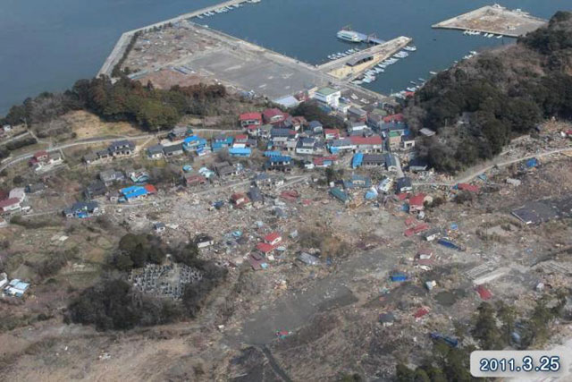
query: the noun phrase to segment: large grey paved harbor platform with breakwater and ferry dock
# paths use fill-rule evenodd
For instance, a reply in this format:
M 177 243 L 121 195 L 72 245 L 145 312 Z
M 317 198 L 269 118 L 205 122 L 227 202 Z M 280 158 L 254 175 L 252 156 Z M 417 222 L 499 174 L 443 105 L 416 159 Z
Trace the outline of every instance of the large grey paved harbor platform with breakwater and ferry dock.
M 220 83 L 231 91 L 246 91 L 273 100 L 330 85 L 366 104 L 384 96 L 357 85 L 374 81 L 372 71 L 383 72 L 376 65 L 384 61 L 394 64 L 416 50 L 408 46 L 412 38 L 401 36 L 384 41 L 373 34 L 342 29 L 341 32 L 355 37 L 354 48 L 332 55 L 332 61 L 325 64 L 308 64 L 202 25 L 202 19 L 258 2 L 234 0 L 216 4 L 126 32 L 99 74 L 110 75 L 120 63 L 119 69 L 129 68 L 131 80 L 152 81 L 158 88 Z M 340 38 L 339 34 L 332 35 L 332 39 L 336 38 Z M 356 81 L 357 78 L 361 80 Z

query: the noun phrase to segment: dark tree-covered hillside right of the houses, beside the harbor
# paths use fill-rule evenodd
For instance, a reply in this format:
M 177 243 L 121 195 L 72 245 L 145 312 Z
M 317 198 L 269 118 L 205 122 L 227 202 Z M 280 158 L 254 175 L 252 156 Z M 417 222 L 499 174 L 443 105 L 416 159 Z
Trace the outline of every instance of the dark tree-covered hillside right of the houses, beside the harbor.
M 572 117 L 572 13 L 428 81 L 406 111 L 414 131 L 438 132 L 422 154 L 455 173 L 501 153 L 510 139 L 547 118 Z

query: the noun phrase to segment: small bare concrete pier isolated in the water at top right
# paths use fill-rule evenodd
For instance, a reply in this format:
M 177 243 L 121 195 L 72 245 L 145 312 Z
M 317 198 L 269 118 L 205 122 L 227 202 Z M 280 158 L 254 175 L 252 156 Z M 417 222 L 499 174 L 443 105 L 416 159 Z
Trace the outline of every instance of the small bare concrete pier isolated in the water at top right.
M 548 21 L 534 17 L 519 8 L 510 10 L 499 4 L 494 4 L 433 24 L 432 28 L 464 30 L 464 34 L 467 36 L 517 38 L 537 30 L 546 22 Z

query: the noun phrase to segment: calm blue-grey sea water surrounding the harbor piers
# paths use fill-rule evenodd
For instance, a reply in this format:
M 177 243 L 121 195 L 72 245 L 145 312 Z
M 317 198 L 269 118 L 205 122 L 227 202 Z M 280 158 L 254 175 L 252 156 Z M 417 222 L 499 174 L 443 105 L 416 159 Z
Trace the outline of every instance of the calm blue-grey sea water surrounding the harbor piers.
M 0 0 L 0 114 L 42 91 L 69 88 L 94 76 L 125 30 L 187 13 L 219 0 Z M 200 23 L 311 64 L 349 49 L 341 27 L 390 39 L 414 38 L 417 51 L 392 65 L 367 88 L 400 90 L 429 78 L 471 50 L 509 44 L 511 38 L 467 37 L 432 30 L 435 22 L 485 4 L 484 0 L 263 0 Z M 504 0 L 549 18 L 571 9 L 564 0 Z

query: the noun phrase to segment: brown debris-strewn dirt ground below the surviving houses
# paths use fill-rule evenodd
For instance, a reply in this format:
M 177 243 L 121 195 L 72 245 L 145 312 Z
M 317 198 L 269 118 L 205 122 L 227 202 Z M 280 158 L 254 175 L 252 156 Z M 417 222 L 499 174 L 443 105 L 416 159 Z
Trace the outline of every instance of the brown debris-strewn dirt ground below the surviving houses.
M 544 144 L 551 147 L 551 142 Z M 217 159 L 197 159 L 192 166 L 197 170 Z M 263 190 L 260 208 L 212 208 L 214 201 L 228 200 L 233 192 L 248 191 L 256 174 L 248 167 L 257 168 L 261 159 L 249 160 L 243 162 L 245 174 L 203 188 L 183 189 L 166 181 L 155 199 L 121 206 L 102 200 L 107 224 L 59 218 L 35 229 L 11 225 L 0 230 L 0 242 L 10 240 L 9 248 L 0 252 L 4 267 L 11 276 L 35 282 L 23 301 L 0 301 L 4 324 L 6 318 L 17 318 L 0 334 L 4 377 L 318 381 L 357 372 L 386 380 L 396 361 L 423 356 L 431 347 L 429 333 L 456 335 L 458 325 L 470 325 L 483 301 L 475 292 L 477 284 L 492 293 L 492 302 L 507 301 L 523 312 L 542 296 L 537 284 L 571 286 L 566 270 L 572 269 L 570 219 L 527 226 L 511 216 L 526 201 L 569 195 L 572 158 L 566 155 L 543 158 L 535 169 L 519 163 L 492 169 L 474 182 L 481 191 L 464 203 L 455 201 L 458 191 L 450 187 L 417 187 L 416 192 L 444 200 L 425 209 L 425 223 L 441 229 L 462 251 L 427 242 L 420 234 L 405 236 L 409 226 L 421 221 L 399 199 L 343 206 L 323 183 L 314 181 L 323 176 L 318 171 L 274 174 L 285 184 Z M 180 169 L 184 162 L 181 158 L 161 166 Z M 146 164 L 152 166 L 133 157 L 120 167 Z M 49 191 L 30 196 L 34 208 L 62 208 L 102 168 L 74 167 L 69 179 L 54 176 Z M 507 178 L 521 184 L 510 185 Z M 379 181 L 378 174 L 374 181 Z M 299 196 L 288 199 L 283 191 Z M 362 200 L 365 191 L 354 191 L 355 200 Z M 216 244 L 201 256 L 229 270 L 228 280 L 209 296 L 198 318 L 125 333 L 64 324 L 70 296 L 97 279 L 122 234 L 150 233 L 156 221 L 168 225 L 161 233 L 165 242 L 213 235 Z M 233 235 L 237 231 L 240 240 Z M 248 255 L 273 231 L 282 233 L 284 249 L 268 261 L 269 267 L 254 271 Z M 300 250 L 317 249 L 305 233 L 320 239 L 315 247 L 324 254 L 317 266 L 297 260 Z M 416 259 L 420 251 L 433 253 L 433 262 L 421 265 Z M 34 265 L 55 252 L 69 253 L 65 267 L 49 279 L 38 278 Z M 391 281 L 397 271 L 407 281 Z M 427 281 L 435 281 L 432 290 Z M 415 317 L 422 308 L 426 314 Z M 43 312 L 49 314 L 40 317 Z M 379 315 L 388 312 L 395 322 L 383 327 Z M 277 331 L 285 331 L 282 338 Z

